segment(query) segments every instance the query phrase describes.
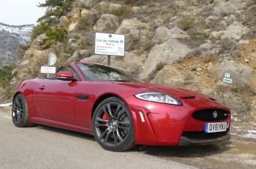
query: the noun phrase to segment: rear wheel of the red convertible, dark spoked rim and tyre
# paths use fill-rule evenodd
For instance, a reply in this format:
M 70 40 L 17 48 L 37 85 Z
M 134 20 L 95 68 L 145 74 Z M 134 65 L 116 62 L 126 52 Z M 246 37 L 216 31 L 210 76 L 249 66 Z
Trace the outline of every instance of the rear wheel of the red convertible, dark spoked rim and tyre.
M 12 122 L 17 127 L 31 127 L 34 125 L 29 122 L 28 105 L 21 93 L 16 95 L 12 102 Z

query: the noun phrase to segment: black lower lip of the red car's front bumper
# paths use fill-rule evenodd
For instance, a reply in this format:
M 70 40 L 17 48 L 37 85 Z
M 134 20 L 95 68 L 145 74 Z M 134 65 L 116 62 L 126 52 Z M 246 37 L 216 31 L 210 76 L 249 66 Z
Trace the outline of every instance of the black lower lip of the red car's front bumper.
M 196 139 L 196 138 L 189 138 L 187 136 L 182 135 L 181 140 L 178 143 L 178 146 L 196 146 L 196 145 L 204 145 L 204 144 L 212 144 L 219 141 L 227 141 L 231 138 L 229 132 L 226 135 L 223 135 L 219 138 L 204 138 L 204 139 Z

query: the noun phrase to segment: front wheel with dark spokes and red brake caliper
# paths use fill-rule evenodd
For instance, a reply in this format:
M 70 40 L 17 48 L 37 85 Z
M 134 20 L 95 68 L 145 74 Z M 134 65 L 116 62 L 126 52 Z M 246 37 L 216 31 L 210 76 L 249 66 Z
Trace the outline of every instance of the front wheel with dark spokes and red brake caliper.
M 92 127 L 94 138 L 104 149 L 122 152 L 135 146 L 132 116 L 120 98 L 106 98 L 99 103 Z

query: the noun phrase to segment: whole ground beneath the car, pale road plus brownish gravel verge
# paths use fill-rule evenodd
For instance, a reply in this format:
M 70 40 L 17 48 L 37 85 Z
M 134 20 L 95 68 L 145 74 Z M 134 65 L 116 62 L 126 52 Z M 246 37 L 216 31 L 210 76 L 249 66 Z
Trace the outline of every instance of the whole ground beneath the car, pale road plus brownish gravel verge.
M 0 109 L 0 169 L 256 168 L 256 140 L 233 135 L 207 146 L 138 146 L 108 152 L 91 135 L 37 125 L 19 128 Z

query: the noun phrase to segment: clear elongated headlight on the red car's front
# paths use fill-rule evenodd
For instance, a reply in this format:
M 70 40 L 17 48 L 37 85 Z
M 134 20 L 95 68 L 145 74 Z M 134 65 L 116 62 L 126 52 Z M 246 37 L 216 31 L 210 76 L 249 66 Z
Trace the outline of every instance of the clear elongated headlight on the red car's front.
M 165 95 L 164 93 L 140 93 L 135 95 L 135 97 L 143 101 L 154 101 L 158 103 L 182 105 L 181 101 L 178 101 L 176 98 L 170 97 L 170 95 Z

